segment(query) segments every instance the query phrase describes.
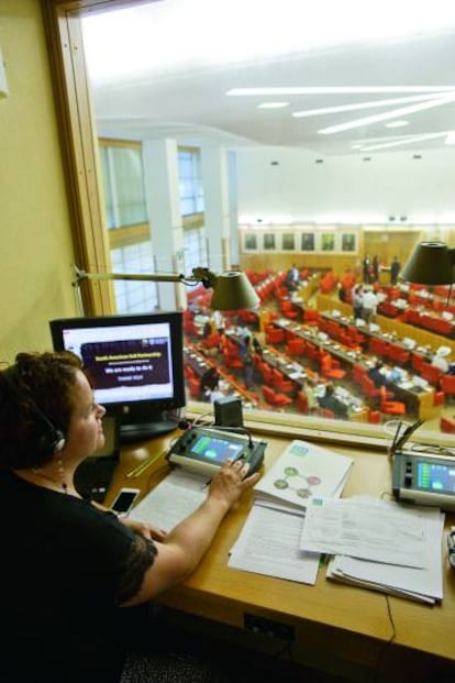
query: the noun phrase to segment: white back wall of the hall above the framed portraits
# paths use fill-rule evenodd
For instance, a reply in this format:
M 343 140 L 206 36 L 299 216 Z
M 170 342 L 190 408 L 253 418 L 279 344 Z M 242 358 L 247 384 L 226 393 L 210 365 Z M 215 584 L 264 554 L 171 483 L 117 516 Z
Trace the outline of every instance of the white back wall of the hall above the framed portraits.
M 455 147 L 421 154 L 317 164 L 318 155 L 303 150 L 238 148 L 238 222 L 387 223 L 406 216 L 409 224 L 455 223 Z

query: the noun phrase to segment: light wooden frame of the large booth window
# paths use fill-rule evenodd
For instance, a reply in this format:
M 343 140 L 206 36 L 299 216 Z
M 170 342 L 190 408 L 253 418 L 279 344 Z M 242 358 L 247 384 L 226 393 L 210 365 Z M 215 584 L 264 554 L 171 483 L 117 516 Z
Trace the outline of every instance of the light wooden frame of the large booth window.
M 77 264 L 82 269 L 109 272 L 108 231 L 103 217 L 98 139 L 85 67 L 80 16 L 86 12 L 116 10 L 145 0 L 41 0 L 47 38 L 49 66 L 60 132 L 64 175 L 67 181 L 68 209 Z M 109 315 L 114 307 L 112 283 L 85 280 L 81 287 L 87 315 Z M 189 406 L 190 415 L 207 412 L 207 405 Z M 314 419 L 266 410 L 245 416 L 246 423 L 263 432 L 293 438 L 323 439 L 362 445 L 387 453 L 390 439 L 382 428 L 360 422 Z M 421 441 L 444 443 L 444 434 L 423 432 Z

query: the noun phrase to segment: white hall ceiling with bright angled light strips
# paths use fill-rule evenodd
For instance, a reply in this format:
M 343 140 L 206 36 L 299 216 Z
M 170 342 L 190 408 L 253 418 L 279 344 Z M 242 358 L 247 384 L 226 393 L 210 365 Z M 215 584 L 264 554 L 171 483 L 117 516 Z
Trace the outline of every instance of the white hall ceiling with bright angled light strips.
M 423 5 L 431 5 L 437 16 L 439 1 L 423 2 Z M 134 139 L 170 136 L 180 144 L 291 146 L 307 148 L 321 157 L 366 153 L 373 156 L 381 150 L 422 155 L 425 150 L 436 147 L 455 151 L 454 146 L 445 145 L 447 133 L 455 131 L 455 2 L 445 2 L 451 15 L 442 18 L 443 30 L 430 25 L 429 31 L 404 37 L 397 24 L 396 35 L 387 40 L 378 32 L 367 35 L 379 25 L 379 15 L 371 11 L 375 3 L 371 5 L 366 0 L 319 0 L 317 4 L 325 14 L 322 12 L 318 18 L 318 24 L 310 21 L 310 8 L 314 3 L 308 0 L 280 0 L 274 3 L 276 8 L 270 16 L 260 11 L 246 12 L 245 8 L 260 8 L 256 0 L 243 0 L 240 4 L 243 14 L 236 19 L 242 21 L 240 32 L 228 23 L 230 18 L 222 12 L 223 4 L 233 11 L 237 0 L 230 3 L 211 0 L 210 12 L 201 7 L 202 2 L 164 0 L 85 20 L 87 66 L 100 134 Z M 391 5 L 396 8 L 395 14 L 387 16 L 387 2 L 381 3 L 381 20 L 398 18 L 400 7 L 408 10 L 420 7 L 420 0 L 412 3 L 395 0 Z M 334 8 L 340 10 L 341 5 L 345 14 L 333 14 Z M 354 5 L 364 8 L 362 16 L 348 13 L 347 10 L 356 9 Z M 297 13 L 291 14 L 291 9 Z M 333 35 L 325 35 L 324 44 L 315 45 L 311 32 L 320 31 L 321 22 L 328 25 L 330 16 Z M 271 19 L 273 33 L 265 25 L 266 19 Z M 353 26 L 357 26 L 358 34 L 349 37 L 346 32 L 354 30 Z M 260 46 L 253 40 L 256 34 L 267 38 Z M 237 53 L 228 56 L 228 47 L 236 47 Z M 134 58 L 138 66 L 134 66 Z M 421 104 L 422 97 L 429 98 L 429 92 L 418 91 L 422 86 L 434 88 L 430 92 L 432 99 L 424 100 L 426 109 L 412 112 L 409 108 Z M 279 96 L 226 95 L 233 88 L 270 87 L 312 90 Z M 358 87 L 366 90 L 362 93 L 321 91 L 321 88 Z M 384 90 L 373 92 L 371 88 Z M 437 95 L 437 88 L 445 90 Z M 301 110 L 371 100 L 388 103 L 304 118 L 292 115 Z M 288 102 L 288 106 L 258 109 L 259 103 L 267 101 Z M 437 106 L 433 106 L 435 102 Z M 365 121 L 332 134 L 319 132 L 391 111 L 395 113 L 388 120 Z M 386 126 L 402 120 L 408 125 Z M 417 139 L 419 135 L 422 137 Z M 409 140 L 404 142 L 403 136 Z M 393 146 L 382 146 L 387 143 Z

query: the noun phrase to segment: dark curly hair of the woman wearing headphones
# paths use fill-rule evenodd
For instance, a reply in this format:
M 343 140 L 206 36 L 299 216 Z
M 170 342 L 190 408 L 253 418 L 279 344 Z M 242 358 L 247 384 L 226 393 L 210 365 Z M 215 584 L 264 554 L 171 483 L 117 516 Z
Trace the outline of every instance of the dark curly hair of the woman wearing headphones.
M 65 351 L 19 353 L 0 373 L 1 469 L 40 467 L 52 460 L 43 445 L 51 431 L 46 419 L 67 433 L 78 370 L 80 359 Z

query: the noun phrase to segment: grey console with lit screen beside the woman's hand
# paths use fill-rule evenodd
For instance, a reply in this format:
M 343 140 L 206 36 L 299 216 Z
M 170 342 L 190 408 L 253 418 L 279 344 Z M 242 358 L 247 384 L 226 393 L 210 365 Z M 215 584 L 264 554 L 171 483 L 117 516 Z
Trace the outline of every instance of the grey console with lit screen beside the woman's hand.
M 233 429 L 233 428 L 230 428 Z M 247 433 L 231 433 L 222 427 L 192 427 L 170 448 L 170 463 L 211 475 L 226 460 L 242 460 L 248 473 L 258 470 L 264 461 L 266 441 L 255 441 Z

